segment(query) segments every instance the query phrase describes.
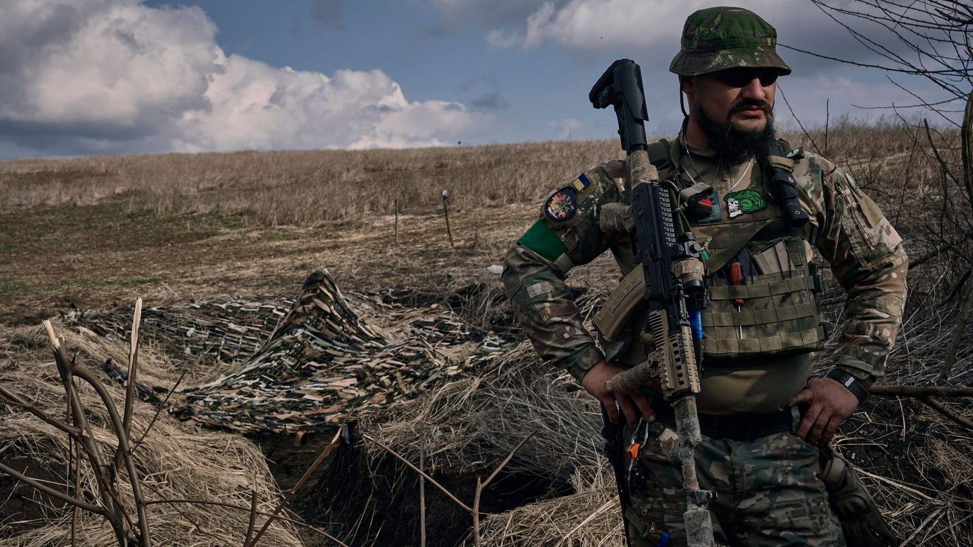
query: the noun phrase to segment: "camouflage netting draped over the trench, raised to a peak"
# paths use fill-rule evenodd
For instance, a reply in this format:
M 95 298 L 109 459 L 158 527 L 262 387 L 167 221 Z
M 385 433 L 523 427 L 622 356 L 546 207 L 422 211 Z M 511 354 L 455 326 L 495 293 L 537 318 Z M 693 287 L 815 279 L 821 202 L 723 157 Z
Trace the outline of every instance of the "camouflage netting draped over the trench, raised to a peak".
M 162 339 L 170 349 L 181 343 L 176 355 L 224 359 L 252 349 L 252 356 L 215 380 L 180 387 L 183 397 L 172 410 L 190 423 L 240 433 L 333 429 L 352 412 L 413 396 L 490 361 L 505 347 L 495 338 L 474 340 L 450 310 L 409 310 L 388 300 L 359 295 L 353 301 L 396 325 L 383 336 L 352 310 L 330 274 L 318 271 L 295 301 L 240 299 L 143 311 L 143 336 Z M 283 312 L 281 303 L 290 310 Z M 91 333 L 125 339 L 126 314 L 77 320 Z M 113 372 L 125 380 L 123 371 Z M 145 396 L 155 391 L 140 388 Z

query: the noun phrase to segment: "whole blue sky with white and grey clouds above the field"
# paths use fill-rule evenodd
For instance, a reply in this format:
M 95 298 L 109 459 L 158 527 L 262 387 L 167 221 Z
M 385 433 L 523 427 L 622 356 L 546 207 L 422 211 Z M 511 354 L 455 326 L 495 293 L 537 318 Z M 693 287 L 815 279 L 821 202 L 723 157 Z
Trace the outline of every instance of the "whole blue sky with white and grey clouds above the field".
M 809 0 L 737 4 L 781 44 L 876 60 Z M 614 116 L 587 94 L 620 57 L 642 66 L 648 129 L 667 134 L 681 120 L 668 62 L 686 16 L 707 5 L 6 0 L 0 158 L 609 138 Z M 806 125 L 823 124 L 825 100 L 832 119 L 916 101 L 881 71 L 779 53 L 794 69 L 780 87 Z M 793 124 L 779 95 L 776 114 Z

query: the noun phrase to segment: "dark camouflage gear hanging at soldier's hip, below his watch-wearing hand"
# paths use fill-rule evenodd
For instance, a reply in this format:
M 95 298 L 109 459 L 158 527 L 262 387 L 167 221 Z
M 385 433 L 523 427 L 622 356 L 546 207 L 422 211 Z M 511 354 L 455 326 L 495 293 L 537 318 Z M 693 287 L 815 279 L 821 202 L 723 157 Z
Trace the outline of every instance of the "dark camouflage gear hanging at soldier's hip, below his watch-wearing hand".
M 897 547 L 899 538 L 888 529 L 875 500 L 858 480 L 854 467 L 843 457 L 828 454 L 830 457 L 821 470 L 821 481 L 828 490 L 831 510 L 842 522 L 845 540 L 848 545 L 864 547 Z

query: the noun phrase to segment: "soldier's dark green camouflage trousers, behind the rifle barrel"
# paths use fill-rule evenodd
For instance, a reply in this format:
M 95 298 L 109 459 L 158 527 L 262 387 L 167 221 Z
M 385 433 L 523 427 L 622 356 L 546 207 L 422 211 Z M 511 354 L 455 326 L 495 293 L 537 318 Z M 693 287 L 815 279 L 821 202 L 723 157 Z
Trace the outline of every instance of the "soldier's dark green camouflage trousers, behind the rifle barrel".
M 792 431 L 800 415 L 795 414 Z M 634 433 L 634 435 L 633 435 Z M 643 443 L 636 461 L 623 456 L 631 501 L 625 507 L 635 547 L 686 545 L 686 495 L 673 428 L 656 421 L 625 427 Z M 791 432 L 753 441 L 710 438 L 696 446 L 700 488 L 717 492 L 710 503 L 716 541 L 731 546 L 845 547 L 841 525 L 818 478 L 820 451 Z M 669 537 L 666 540 L 666 537 Z

